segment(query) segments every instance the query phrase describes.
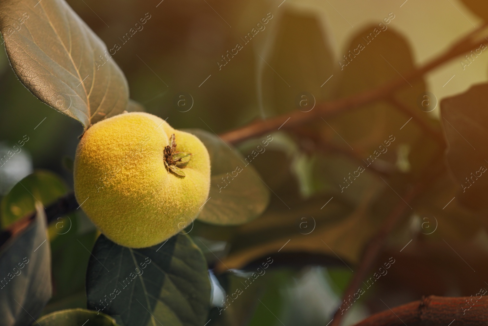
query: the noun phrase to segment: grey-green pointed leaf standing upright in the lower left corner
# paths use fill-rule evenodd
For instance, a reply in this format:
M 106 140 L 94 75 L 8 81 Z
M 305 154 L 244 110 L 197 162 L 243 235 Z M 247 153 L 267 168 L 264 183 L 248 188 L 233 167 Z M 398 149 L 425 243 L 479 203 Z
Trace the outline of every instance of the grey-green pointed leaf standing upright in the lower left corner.
M 0 248 L 0 325 L 30 325 L 51 298 L 51 252 L 46 217 L 37 215 L 24 231 Z

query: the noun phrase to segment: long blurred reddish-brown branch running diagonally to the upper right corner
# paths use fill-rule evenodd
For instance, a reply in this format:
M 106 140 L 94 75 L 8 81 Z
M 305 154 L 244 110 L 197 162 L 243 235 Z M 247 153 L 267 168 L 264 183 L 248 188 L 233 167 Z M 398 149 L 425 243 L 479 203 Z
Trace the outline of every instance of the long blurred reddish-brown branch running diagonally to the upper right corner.
M 266 132 L 275 131 L 280 128 L 285 121 L 286 123 L 281 128 L 291 129 L 321 116 L 331 116 L 344 112 L 347 109 L 353 109 L 360 105 L 385 98 L 398 88 L 404 87 L 406 85 L 405 80 L 413 82 L 439 65 L 442 65 L 463 53 L 479 47 L 479 40 L 473 40 L 473 38 L 477 33 L 480 33 L 486 27 L 487 23 L 483 24 L 483 26 L 477 28 L 475 31 L 469 33 L 463 39 L 451 46 L 444 54 L 405 75 L 405 79 L 398 78 L 394 81 L 386 83 L 385 85 L 367 90 L 354 96 L 341 98 L 328 103 L 318 104 L 309 112 L 294 111 L 267 120 L 255 120 L 244 127 L 225 132 L 221 134 L 220 137 L 226 142 L 238 143 L 246 139 L 262 135 Z

